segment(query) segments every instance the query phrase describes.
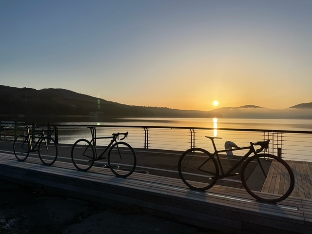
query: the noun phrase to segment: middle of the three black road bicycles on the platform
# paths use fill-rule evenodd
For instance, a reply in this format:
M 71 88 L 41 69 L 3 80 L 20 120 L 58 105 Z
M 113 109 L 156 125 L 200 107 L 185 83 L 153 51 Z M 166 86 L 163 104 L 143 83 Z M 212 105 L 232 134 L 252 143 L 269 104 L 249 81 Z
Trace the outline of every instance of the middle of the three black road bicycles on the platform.
M 117 141 L 121 135 L 123 140 L 128 138 L 126 133 L 113 133 L 111 137 L 97 137 L 96 127 L 87 127 L 91 131 L 92 139 L 78 139 L 72 147 L 72 161 L 79 171 L 88 171 L 95 161 L 107 159 L 108 166 L 111 171 L 119 177 L 130 176 L 137 165 L 137 157 L 133 148 L 126 142 Z M 106 146 L 100 156 L 97 152 L 97 139 L 110 139 L 110 143 Z M 108 151 L 107 156 L 104 154 Z M 104 156 L 104 157 L 103 157 Z M 123 168 L 120 168 L 123 166 Z

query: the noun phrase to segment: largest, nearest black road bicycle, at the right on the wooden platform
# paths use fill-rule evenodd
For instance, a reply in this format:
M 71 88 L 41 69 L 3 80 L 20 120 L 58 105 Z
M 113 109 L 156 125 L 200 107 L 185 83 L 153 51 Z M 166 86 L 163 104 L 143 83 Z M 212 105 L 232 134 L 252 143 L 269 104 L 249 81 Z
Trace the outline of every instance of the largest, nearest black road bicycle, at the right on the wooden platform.
M 284 200 L 292 193 L 294 175 L 291 167 L 280 157 L 266 153 L 259 154 L 269 148 L 270 140 L 250 142 L 250 146 L 247 147 L 235 145 L 235 148 L 217 150 L 214 139 L 222 138 L 207 138 L 212 141 L 215 150 L 213 154 L 201 148 L 191 148 L 179 158 L 179 176 L 189 188 L 201 191 L 210 189 L 218 179 L 238 175 L 233 172 L 245 161 L 240 170 L 240 179 L 245 190 L 255 199 L 275 203 Z M 260 148 L 255 149 L 254 146 Z M 248 150 L 248 152 L 227 172 L 224 172 L 218 154 L 236 150 Z M 275 186 L 271 184 L 272 178 L 275 179 Z

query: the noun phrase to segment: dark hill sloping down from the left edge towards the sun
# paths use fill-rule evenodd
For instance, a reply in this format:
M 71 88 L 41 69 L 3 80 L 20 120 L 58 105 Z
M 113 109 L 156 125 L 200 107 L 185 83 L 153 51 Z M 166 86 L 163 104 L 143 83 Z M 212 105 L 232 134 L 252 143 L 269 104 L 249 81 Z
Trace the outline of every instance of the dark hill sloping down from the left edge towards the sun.
M 215 117 L 206 111 L 130 106 L 65 89 L 15 88 L 0 85 L 0 114 L 105 115 L 108 117 Z M 5 100 L 5 101 L 4 101 Z

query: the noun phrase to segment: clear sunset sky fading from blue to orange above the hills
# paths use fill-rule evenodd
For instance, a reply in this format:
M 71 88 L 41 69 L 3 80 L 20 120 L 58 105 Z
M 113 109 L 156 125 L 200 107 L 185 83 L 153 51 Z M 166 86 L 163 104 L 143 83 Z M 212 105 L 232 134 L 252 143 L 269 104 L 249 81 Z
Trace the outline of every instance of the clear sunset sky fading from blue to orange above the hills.
M 0 0 L 0 84 L 185 110 L 312 102 L 312 0 Z

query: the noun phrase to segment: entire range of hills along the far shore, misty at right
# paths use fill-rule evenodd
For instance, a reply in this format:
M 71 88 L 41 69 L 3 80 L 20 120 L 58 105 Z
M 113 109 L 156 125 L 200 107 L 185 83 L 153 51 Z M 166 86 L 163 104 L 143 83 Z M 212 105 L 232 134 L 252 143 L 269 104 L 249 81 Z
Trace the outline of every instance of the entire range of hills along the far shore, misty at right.
M 130 106 L 65 89 L 15 88 L 0 85 L 0 115 L 75 115 L 105 117 L 312 118 L 312 102 L 284 110 L 255 105 L 212 111 Z

